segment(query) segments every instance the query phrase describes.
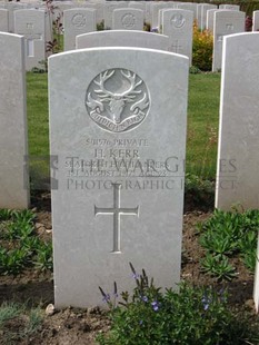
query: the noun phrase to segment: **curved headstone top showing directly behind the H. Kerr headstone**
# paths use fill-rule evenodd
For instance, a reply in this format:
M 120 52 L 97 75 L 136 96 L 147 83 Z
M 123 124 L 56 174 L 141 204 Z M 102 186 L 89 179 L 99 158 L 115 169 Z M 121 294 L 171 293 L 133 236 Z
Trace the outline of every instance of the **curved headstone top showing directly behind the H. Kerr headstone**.
M 170 40 L 168 36 L 147 31 L 107 30 L 77 36 L 76 47 L 139 47 L 168 50 Z

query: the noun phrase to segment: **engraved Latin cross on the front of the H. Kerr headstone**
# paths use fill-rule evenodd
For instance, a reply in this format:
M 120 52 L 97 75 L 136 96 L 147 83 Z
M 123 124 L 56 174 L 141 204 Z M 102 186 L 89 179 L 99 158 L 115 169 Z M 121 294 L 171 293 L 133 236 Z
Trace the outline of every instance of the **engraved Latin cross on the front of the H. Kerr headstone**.
M 139 216 L 139 206 L 133 208 L 120 207 L 120 188 L 121 184 L 112 184 L 113 187 L 113 206 L 97 207 L 94 205 L 94 216 L 113 215 L 113 250 L 112 253 L 121 253 L 120 250 L 120 216 L 132 215 Z

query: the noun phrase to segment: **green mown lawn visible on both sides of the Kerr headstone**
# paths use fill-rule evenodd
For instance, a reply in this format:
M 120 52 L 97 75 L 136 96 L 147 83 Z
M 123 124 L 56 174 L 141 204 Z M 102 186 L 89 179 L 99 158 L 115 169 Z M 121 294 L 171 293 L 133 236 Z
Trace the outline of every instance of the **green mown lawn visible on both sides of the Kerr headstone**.
M 48 76 L 27 73 L 30 156 L 49 155 Z M 187 172 L 215 179 L 219 118 L 220 73 L 190 75 Z M 48 157 L 31 161 L 31 179 L 48 176 Z

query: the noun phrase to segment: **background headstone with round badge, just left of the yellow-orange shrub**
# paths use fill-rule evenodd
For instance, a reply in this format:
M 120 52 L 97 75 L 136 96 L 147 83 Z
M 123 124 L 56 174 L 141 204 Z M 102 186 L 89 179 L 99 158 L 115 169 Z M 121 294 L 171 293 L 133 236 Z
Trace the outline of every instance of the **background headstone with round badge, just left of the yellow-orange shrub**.
M 185 55 L 192 59 L 193 12 L 181 9 L 162 11 L 162 33 L 170 39 L 169 51 Z

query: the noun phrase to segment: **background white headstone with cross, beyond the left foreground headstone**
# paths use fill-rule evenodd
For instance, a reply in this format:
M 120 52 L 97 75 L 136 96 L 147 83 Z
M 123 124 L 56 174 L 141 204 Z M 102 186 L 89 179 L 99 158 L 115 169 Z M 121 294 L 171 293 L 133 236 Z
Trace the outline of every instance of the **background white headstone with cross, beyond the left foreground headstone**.
M 44 11 L 17 10 L 14 12 L 14 32 L 26 38 L 26 69 L 41 67 L 46 59 Z

